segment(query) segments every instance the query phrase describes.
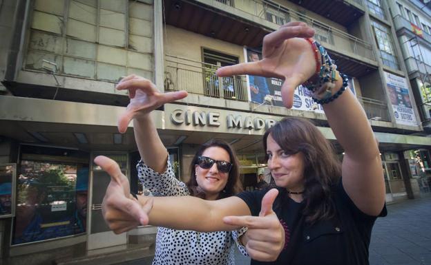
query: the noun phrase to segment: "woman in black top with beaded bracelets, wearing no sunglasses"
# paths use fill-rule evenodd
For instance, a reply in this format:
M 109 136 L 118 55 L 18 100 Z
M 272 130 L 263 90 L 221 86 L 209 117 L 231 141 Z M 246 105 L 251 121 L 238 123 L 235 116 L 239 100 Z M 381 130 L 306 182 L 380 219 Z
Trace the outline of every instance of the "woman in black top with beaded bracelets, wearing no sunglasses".
M 378 143 L 361 105 L 346 89 L 347 78 L 325 49 L 308 39 L 313 34 L 305 23 L 283 25 L 265 36 L 261 61 L 222 67 L 218 75 L 284 78 L 281 93 L 286 107 L 293 104 L 294 89 L 305 83 L 323 105 L 345 151 L 343 162 L 316 126 L 300 118 L 285 118 L 263 138 L 278 189 L 245 191 L 217 201 L 142 197 L 140 205 L 146 209 L 131 213 L 135 220 L 195 231 L 247 226 L 240 242 L 251 255 L 251 264 L 260 264 L 258 260 L 294 265 L 369 264 L 372 226 L 386 214 Z M 95 162 L 119 181 L 115 162 L 103 157 Z M 276 220 L 271 218 L 274 212 Z

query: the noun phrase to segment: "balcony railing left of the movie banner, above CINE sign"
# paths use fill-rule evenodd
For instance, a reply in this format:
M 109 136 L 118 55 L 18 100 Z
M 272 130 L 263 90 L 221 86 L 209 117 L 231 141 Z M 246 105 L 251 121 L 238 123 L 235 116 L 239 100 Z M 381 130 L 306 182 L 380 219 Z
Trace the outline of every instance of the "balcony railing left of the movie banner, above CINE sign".
M 245 76 L 218 77 L 217 65 L 165 55 L 164 90 L 248 101 Z

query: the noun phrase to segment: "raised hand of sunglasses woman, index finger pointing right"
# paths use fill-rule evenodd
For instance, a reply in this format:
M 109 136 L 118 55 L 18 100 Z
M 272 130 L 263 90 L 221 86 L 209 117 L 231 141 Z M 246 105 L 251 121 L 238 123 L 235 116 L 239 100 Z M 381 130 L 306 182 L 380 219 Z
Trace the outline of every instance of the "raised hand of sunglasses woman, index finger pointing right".
M 116 89 L 128 90 L 128 96 L 131 98 L 126 112 L 118 120 L 118 131 L 120 133 L 126 131 L 128 123 L 133 118 L 149 114 L 165 103 L 170 103 L 187 96 L 187 92 L 185 91 L 161 93 L 151 81 L 134 74 L 126 76 L 119 81 Z

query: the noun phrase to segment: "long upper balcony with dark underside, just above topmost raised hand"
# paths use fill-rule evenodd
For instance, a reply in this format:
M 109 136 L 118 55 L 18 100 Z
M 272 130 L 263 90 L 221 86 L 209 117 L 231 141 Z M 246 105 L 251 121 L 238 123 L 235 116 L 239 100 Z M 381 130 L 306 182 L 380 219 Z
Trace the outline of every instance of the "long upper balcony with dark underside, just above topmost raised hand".
M 263 36 L 280 25 L 304 21 L 316 30 L 315 38 L 349 76 L 363 76 L 377 68 L 369 43 L 279 4 L 258 0 L 164 0 L 164 3 L 167 24 L 248 47 L 260 47 Z

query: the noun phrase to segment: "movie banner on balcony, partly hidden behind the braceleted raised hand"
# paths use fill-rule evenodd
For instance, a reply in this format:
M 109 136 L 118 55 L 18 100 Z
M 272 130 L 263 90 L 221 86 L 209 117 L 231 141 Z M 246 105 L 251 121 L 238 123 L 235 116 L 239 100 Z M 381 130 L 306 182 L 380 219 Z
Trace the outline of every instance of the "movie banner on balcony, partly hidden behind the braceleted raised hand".
M 245 49 L 247 62 L 259 61 L 262 54 L 256 50 Z M 249 84 L 249 101 L 258 104 L 268 104 L 283 107 L 281 98 L 282 80 L 278 78 L 265 78 L 262 76 L 247 76 Z M 349 89 L 356 96 L 353 80 L 349 78 Z M 294 92 L 294 105 L 292 109 L 304 110 L 323 114 L 323 107 L 314 103 L 312 93 L 306 87 L 299 85 Z

